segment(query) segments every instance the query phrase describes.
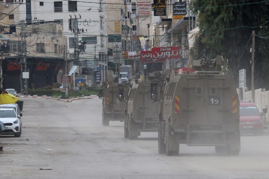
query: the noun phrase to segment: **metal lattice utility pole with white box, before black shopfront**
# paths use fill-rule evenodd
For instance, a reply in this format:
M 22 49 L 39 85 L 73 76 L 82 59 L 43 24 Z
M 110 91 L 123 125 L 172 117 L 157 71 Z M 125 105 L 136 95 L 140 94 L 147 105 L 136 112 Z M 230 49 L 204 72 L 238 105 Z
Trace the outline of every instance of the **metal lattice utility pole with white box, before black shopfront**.
M 21 93 L 23 95 L 27 95 L 27 89 L 28 89 L 28 78 L 29 78 L 29 72 L 27 75 L 27 59 L 26 59 L 26 44 L 25 44 L 25 24 L 24 21 L 21 22 L 22 27 L 22 40 L 21 40 L 21 52 L 20 52 L 20 63 L 21 63 Z

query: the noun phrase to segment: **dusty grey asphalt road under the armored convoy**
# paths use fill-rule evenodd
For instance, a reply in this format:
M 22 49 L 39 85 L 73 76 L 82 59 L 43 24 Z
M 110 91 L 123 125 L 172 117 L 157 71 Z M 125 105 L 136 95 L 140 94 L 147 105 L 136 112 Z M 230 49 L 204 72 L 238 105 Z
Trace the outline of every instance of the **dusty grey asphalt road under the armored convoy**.
M 269 178 L 269 135 L 242 136 L 239 156 L 180 146 L 158 154 L 158 134 L 123 137 L 123 122 L 102 126 L 102 100 L 22 98 L 22 135 L 1 136 L 0 178 Z

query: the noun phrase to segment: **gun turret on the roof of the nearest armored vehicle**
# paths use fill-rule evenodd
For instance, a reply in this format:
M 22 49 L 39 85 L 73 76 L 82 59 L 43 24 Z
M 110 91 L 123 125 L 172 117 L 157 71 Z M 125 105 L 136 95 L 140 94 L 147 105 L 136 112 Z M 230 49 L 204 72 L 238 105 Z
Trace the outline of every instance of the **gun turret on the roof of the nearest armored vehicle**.
M 196 71 L 221 71 L 221 66 L 224 65 L 224 59 L 221 55 L 217 55 L 215 59 L 207 57 L 192 61 L 192 69 Z

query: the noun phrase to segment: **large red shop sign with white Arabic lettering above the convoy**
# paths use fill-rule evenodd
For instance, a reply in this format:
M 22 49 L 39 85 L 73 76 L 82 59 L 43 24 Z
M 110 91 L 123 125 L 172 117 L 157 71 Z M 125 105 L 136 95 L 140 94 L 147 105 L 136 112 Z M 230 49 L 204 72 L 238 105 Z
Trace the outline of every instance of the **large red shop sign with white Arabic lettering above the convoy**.
M 154 47 L 152 51 L 141 51 L 142 62 L 163 62 L 166 59 L 180 58 L 179 47 Z

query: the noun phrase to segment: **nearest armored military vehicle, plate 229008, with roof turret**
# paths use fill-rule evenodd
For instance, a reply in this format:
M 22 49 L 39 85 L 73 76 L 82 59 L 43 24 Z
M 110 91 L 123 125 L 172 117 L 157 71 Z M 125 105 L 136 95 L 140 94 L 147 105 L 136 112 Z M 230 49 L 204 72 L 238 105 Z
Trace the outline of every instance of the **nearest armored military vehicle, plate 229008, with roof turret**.
M 191 74 L 167 78 L 158 131 L 159 153 L 177 155 L 180 144 L 215 146 L 217 154 L 239 155 L 239 99 L 224 60 L 201 58 Z

